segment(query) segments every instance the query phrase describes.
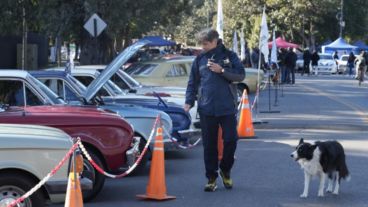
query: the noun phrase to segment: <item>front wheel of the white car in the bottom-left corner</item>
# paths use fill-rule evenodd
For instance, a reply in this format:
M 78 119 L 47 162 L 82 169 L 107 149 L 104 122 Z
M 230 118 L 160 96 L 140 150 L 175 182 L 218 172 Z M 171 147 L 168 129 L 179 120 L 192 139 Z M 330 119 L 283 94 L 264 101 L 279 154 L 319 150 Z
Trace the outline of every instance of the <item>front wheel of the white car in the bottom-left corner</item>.
M 16 173 L 0 175 L 0 206 L 7 206 L 13 200 L 21 197 L 37 183 L 27 176 Z M 19 204 L 20 207 L 38 207 L 46 205 L 45 197 L 41 190 L 36 191 L 31 197 Z

